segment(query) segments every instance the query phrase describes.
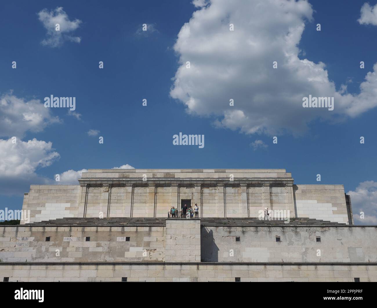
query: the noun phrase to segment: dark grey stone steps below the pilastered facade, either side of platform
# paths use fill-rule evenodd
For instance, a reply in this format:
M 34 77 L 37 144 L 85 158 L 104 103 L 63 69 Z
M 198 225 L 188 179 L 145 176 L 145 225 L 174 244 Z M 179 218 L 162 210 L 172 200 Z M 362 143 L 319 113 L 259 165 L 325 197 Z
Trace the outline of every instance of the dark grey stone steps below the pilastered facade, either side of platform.
M 166 220 L 186 218 L 164 217 L 109 217 L 109 218 L 58 218 L 43 222 L 28 223 L 25 226 L 165 226 Z M 196 218 L 198 219 L 198 218 Z M 347 226 L 313 218 L 290 218 L 283 220 L 259 220 L 258 218 L 200 218 L 202 226 Z

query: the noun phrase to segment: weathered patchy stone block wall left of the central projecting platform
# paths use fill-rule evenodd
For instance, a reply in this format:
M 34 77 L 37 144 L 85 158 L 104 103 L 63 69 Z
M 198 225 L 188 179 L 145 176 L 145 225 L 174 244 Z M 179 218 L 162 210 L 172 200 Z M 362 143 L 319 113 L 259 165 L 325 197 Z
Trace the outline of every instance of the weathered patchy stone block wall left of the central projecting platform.
M 163 261 L 164 248 L 164 226 L 0 226 L 2 262 Z

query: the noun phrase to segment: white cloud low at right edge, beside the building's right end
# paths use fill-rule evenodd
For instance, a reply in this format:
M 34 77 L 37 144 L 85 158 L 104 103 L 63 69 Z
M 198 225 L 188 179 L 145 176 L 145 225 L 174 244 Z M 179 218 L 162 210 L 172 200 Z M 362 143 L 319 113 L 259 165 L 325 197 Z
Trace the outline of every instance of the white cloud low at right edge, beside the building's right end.
M 365 181 L 348 191 L 351 196 L 352 214 L 356 224 L 377 225 L 377 182 Z M 360 218 L 364 212 L 364 219 Z

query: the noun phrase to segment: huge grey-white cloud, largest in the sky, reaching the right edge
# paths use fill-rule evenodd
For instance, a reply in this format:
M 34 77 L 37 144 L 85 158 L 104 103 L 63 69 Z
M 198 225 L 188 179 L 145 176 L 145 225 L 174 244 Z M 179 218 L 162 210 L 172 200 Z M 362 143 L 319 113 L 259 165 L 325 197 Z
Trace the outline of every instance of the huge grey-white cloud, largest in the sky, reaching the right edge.
M 201 9 L 182 26 L 174 45 L 180 66 L 170 91 L 190 114 L 246 134 L 302 135 L 316 118 L 336 122 L 377 106 L 377 65 L 361 83 L 360 94 L 349 94 L 346 85 L 336 90 L 325 64 L 299 58 L 305 22 L 313 15 L 307 1 L 195 4 Z M 334 97 L 334 111 L 303 108 L 302 99 L 309 95 Z

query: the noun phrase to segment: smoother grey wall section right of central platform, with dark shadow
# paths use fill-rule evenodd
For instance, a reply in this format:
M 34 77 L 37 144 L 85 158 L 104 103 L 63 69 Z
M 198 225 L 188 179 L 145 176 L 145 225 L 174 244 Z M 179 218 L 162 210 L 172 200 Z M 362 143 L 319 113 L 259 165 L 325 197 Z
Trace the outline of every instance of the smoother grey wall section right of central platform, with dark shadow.
M 202 262 L 377 262 L 376 227 L 202 226 L 201 239 Z

